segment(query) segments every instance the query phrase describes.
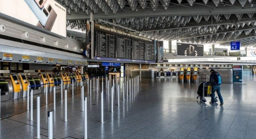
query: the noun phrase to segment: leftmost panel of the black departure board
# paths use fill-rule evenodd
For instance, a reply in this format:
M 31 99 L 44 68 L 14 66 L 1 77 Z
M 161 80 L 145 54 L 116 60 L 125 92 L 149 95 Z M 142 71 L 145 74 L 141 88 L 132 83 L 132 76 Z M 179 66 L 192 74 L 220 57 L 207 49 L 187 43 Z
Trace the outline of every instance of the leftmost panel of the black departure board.
M 95 30 L 95 57 L 115 58 L 115 34 Z

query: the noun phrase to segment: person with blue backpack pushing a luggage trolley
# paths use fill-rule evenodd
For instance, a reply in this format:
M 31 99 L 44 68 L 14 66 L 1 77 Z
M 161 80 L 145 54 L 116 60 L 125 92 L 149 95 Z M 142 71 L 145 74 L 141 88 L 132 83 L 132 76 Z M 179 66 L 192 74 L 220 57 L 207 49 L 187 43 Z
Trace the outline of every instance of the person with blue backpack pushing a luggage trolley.
M 223 103 L 223 98 L 220 93 L 220 84 L 221 84 L 220 74 L 218 72 L 215 72 L 213 69 L 210 72 L 211 72 L 210 82 L 212 84 L 212 99 L 211 99 L 210 104 L 215 103 L 214 97 L 215 97 L 215 91 L 216 91 L 218 94 L 219 100 L 220 100 L 220 106 L 222 106 L 224 103 Z

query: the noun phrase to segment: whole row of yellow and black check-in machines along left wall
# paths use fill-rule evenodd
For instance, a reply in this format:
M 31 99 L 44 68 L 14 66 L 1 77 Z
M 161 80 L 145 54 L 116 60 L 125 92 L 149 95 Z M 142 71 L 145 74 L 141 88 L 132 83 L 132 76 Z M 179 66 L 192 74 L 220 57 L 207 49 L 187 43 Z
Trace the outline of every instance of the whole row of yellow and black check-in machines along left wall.
M 60 75 L 41 73 L 37 76 L 23 73 L 1 77 L 1 101 L 27 97 L 28 85 L 29 89 L 33 89 L 33 95 L 35 95 L 53 91 L 54 85 L 56 90 L 61 89 L 61 82 L 63 82 L 63 89 L 70 88 L 72 80 L 74 86 L 78 86 L 81 85 L 81 81 L 85 81 L 88 78 L 87 73 L 81 74 L 79 72 L 72 74 L 60 73 Z

